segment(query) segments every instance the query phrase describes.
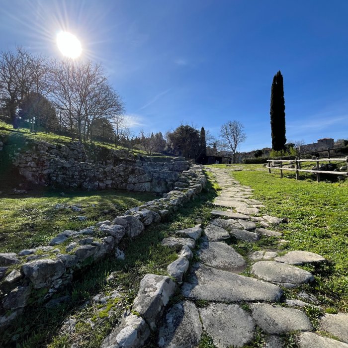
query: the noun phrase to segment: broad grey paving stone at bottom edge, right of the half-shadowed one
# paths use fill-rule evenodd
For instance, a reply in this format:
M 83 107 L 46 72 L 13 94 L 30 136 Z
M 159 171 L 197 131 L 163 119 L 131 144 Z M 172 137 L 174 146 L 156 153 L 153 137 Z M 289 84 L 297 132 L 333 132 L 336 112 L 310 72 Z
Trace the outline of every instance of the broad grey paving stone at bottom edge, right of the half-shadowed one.
M 217 348 L 244 347 L 254 339 L 255 321 L 237 304 L 210 303 L 199 314 Z

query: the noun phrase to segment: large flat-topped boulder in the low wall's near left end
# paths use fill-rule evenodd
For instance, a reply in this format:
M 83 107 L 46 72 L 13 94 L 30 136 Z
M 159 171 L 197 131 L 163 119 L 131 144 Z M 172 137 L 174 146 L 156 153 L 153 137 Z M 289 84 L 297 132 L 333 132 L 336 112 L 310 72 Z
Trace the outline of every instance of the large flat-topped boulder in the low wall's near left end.
M 33 283 L 34 289 L 50 285 L 65 273 L 64 263 L 59 259 L 41 259 L 24 263 L 22 272 Z

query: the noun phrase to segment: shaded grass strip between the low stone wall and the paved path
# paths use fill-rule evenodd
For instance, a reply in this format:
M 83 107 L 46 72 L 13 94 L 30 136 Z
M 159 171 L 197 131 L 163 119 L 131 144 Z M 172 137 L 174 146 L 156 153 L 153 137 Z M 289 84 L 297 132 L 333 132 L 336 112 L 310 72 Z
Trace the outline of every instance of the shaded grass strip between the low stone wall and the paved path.
M 66 289 L 66 294 L 72 296 L 67 305 L 52 309 L 40 306 L 27 308 L 26 315 L 20 316 L 13 327 L 0 335 L 0 347 L 65 348 L 78 342 L 81 348 L 99 348 L 123 311 L 130 308 L 142 277 L 147 273 L 168 275 L 167 266 L 177 259 L 178 250 L 161 246 L 162 239 L 174 236 L 179 229 L 194 226 L 198 217 L 206 224 L 210 219 L 211 208 L 204 203 L 215 196 L 216 192 L 209 182 L 194 201 L 187 202 L 167 221 L 150 225 L 134 240 L 123 239 L 119 248 L 124 250 L 125 260 L 115 260 L 110 256 L 89 266 L 81 277 L 75 276 L 72 288 Z M 106 281 L 110 274 L 114 278 Z M 97 293 L 107 294 L 114 289 L 120 293 L 114 314 L 107 312 L 114 306 L 112 303 L 98 311 L 98 306 L 86 302 Z M 81 307 L 83 304 L 86 306 Z M 68 316 L 77 320 L 76 332 L 69 335 L 59 333 L 62 322 Z M 90 318 L 94 327 L 90 324 Z M 158 347 L 156 335 L 151 337 L 146 347 Z M 213 346 L 205 342 L 200 347 Z

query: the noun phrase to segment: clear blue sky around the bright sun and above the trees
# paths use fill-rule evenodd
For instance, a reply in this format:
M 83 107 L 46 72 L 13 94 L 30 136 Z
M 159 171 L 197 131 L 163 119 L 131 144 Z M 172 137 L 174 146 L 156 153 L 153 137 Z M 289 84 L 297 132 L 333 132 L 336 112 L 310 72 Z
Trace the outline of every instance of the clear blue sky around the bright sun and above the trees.
M 241 151 L 271 144 L 274 74 L 284 77 L 286 137 L 348 137 L 348 1 L 4 0 L 0 48 L 60 56 L 68 30 L 122 96 L 132 132 L 180 122 L 245 126 Z

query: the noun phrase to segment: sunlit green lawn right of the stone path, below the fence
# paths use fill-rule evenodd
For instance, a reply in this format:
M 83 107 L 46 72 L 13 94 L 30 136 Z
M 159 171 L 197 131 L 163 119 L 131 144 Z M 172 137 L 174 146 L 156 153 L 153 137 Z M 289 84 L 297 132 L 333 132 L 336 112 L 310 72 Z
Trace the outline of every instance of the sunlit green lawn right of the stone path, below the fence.
M 311 251 L 328 260 L 320 267 L 307 267 L 315 274 L 310 290 L 325 306 L 348 311 L 348 180 L 317 183 L 295 180 L 291 175 L 280 179 L 279 173 L 268 174 L 261 165 L 235 166 L 243 171 L 231 171 L 233 177 L 254 188 L 253 198 L 264 203 L 260 215 L 286 219 L 287 223 L 274 227 L 289 241 L 284 250 Z M 261 239 L 253 247 L 239 244 L 236 249 L 247 254 L 269 243 L 268 248 L 275 246 L 271 240 Z

